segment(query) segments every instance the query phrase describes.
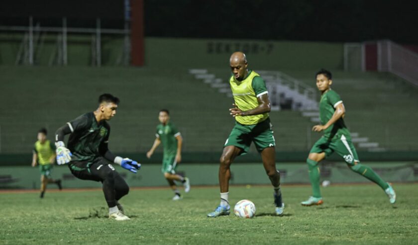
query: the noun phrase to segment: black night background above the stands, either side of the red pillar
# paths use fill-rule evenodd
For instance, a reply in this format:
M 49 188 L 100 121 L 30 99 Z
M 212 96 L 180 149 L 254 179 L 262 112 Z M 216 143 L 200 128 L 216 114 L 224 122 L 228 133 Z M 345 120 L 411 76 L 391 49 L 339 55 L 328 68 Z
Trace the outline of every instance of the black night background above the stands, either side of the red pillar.
M 2 0 L 1 25 L 123 28 L 123 0 Z M 417 1 L 144 0 L 145 35 L 418 43 Z

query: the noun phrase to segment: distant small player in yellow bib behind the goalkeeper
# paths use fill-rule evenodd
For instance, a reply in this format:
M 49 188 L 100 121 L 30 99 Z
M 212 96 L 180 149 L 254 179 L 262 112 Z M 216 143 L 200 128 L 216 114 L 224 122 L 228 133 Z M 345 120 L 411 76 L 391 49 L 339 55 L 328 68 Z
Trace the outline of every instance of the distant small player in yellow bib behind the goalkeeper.
M 32 166 L 39 164 L 41 172 L 41 195 L 44 197 L 46 186 L 49 183 L 55 183 L 61 190 L 61 179 L 53 179 L 51 177 L 52 166 L 55 163 L 55 145 L 46 139 L 47 131 L 42 128 L 38 131 L 38 141 L 33 147 Z

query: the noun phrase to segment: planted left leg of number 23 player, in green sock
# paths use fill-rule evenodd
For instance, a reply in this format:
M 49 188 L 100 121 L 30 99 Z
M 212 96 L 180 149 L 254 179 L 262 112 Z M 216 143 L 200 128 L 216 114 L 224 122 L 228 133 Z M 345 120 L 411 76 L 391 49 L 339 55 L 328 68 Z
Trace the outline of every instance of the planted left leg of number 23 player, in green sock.
M 308 200 L 301 202 L 303 206 L 320 205 L 323 203 L 320 192 L 320 171 L 319 162 L 329 156 L 332 150 L 329 149 L 329 142 L 325 138 L 320 138 L 312 147 L 306 163 L 308 164 L 309 181 L 312 186 L 312 196 Z

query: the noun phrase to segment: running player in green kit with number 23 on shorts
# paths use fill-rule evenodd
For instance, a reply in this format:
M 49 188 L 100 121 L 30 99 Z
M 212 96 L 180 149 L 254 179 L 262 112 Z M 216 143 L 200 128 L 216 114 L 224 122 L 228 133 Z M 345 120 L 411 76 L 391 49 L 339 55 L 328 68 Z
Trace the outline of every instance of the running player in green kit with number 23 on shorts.
M 395 203 L 396 194 L 392 186 L 383 181 L 372 168 L 360 163 L 356 149 L 351 142 L 350 132 L 344 123 L 344 104 L 338 93 L 331 89 L 331 84 L 332 75 L 329 71 L 322 69 L 316 73 L 316 86 L 321 92 L 319 102 L 321 124 L 315 125 L 312 130 L 323 131 L 323 136 L 314 144 L 307 159 L 313 195 L 301 204 L 311 206 L 323 203 L 319 190 L 318 163 L 333 152 L 341 156 L 351 170 L 378 184 L 389 196 L 390 203 Z

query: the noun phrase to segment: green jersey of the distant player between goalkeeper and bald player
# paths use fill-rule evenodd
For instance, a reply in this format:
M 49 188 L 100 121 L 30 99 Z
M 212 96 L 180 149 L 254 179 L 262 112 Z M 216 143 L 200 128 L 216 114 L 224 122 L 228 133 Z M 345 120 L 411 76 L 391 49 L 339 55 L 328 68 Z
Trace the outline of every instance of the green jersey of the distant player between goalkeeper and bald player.
M 177 139 L 180 135 L 177 128 L 168 122 L 166 125 L 159 124 L 157 126 L 157 133 L 155 136 L 163 143 L 164 156 L 176 156 L 177 154 Z

